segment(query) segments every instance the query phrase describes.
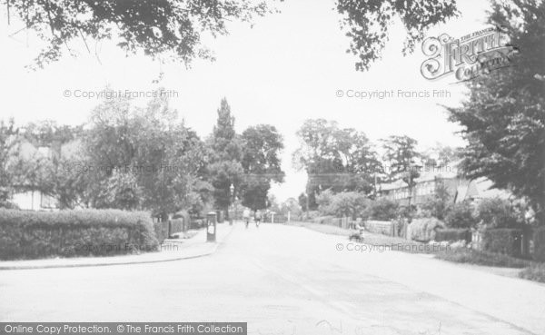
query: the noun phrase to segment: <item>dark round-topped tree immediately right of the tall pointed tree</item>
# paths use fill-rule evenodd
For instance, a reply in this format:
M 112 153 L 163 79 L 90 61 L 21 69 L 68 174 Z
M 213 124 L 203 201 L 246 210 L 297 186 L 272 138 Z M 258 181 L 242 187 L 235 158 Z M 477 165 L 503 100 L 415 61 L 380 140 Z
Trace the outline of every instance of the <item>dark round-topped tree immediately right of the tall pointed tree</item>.
M 268 124 L 259 124 L 246 129 L 243 143 L 244 181 L 241 185 L 243 205 L 253 211 L 266 207 L 267 194 L 272 182 L 282 182 L 280 153 L 283 149 L 282 135 Z

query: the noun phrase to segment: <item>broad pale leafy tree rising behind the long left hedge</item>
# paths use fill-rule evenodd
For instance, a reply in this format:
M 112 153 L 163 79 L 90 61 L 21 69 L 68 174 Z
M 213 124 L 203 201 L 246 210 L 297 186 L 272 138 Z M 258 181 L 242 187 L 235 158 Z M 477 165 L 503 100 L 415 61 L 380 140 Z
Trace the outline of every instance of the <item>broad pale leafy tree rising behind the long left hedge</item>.
M 134 175 L 135 184 L 129 192 L 133 195 L 124 193 L 133 197 L 132 207 L 165 217 L 192 205 L 194 197 L 189 195 L 198 191 L 207 159 L 203 143 L 191 129 L 176 122 L 177 113 L 169 107 L 168 99 L 157 95 L 145 108 L 134 108 L 127 99 L 106 99 L 94 109 L 83 140 L 84 163 L 94 167 L 88 175 L 93 182 L 85 194 L 87 206 L 111 207 L 111 202 L 104 202 L 108 199 L 104 192 L 127 191 L 125 182 L 131 181 L 113 183 L 114 172 Z M 104 191 L 112 185 L 123 190 Z M 139 194 L 141 201 L 134 202 Z

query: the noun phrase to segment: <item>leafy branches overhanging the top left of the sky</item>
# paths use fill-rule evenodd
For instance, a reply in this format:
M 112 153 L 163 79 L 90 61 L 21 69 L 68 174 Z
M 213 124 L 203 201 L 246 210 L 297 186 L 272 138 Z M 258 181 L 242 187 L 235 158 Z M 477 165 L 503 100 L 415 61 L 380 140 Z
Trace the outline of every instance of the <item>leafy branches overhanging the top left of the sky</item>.
M 83 0 L 5 1 L 8 13 L 45 41 L 36 65 L 57 61 L 74 39 L 119 41 L 126 53 L 173 58 L 189 64 L 193 58 L 213 59 L 202 34 L 227 34 L 231 21 L 249 22 L 269 13 L 265 1 L 250 0 Z M 66 50 L 64 50 L 66 46 Z M 90 50 L 89 50 L 90 51 Z

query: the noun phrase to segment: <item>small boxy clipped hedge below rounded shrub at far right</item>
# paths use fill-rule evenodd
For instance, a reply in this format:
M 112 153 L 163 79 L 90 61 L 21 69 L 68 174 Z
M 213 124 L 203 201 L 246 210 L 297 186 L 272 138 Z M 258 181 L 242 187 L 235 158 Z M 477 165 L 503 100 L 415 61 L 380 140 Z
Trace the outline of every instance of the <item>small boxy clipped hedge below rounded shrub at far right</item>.
M 482 246 L 485 251 L 520 256 L 521 241 L 520 229 L 498 228 L 482 232 Z

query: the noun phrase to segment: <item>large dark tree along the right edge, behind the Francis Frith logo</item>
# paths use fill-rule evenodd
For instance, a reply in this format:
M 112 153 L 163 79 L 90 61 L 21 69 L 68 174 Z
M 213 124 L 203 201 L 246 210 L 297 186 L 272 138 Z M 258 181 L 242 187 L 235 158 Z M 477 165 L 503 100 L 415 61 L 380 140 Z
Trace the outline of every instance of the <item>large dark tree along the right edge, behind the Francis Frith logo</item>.
M 545 224 L 545 3 L 494 3 L 489 23 L 520 53 L 509 55 L 512 66 L 469 81 L 468 100 L 447 108 L 468 142 L 461 168 L 526 198 Z

